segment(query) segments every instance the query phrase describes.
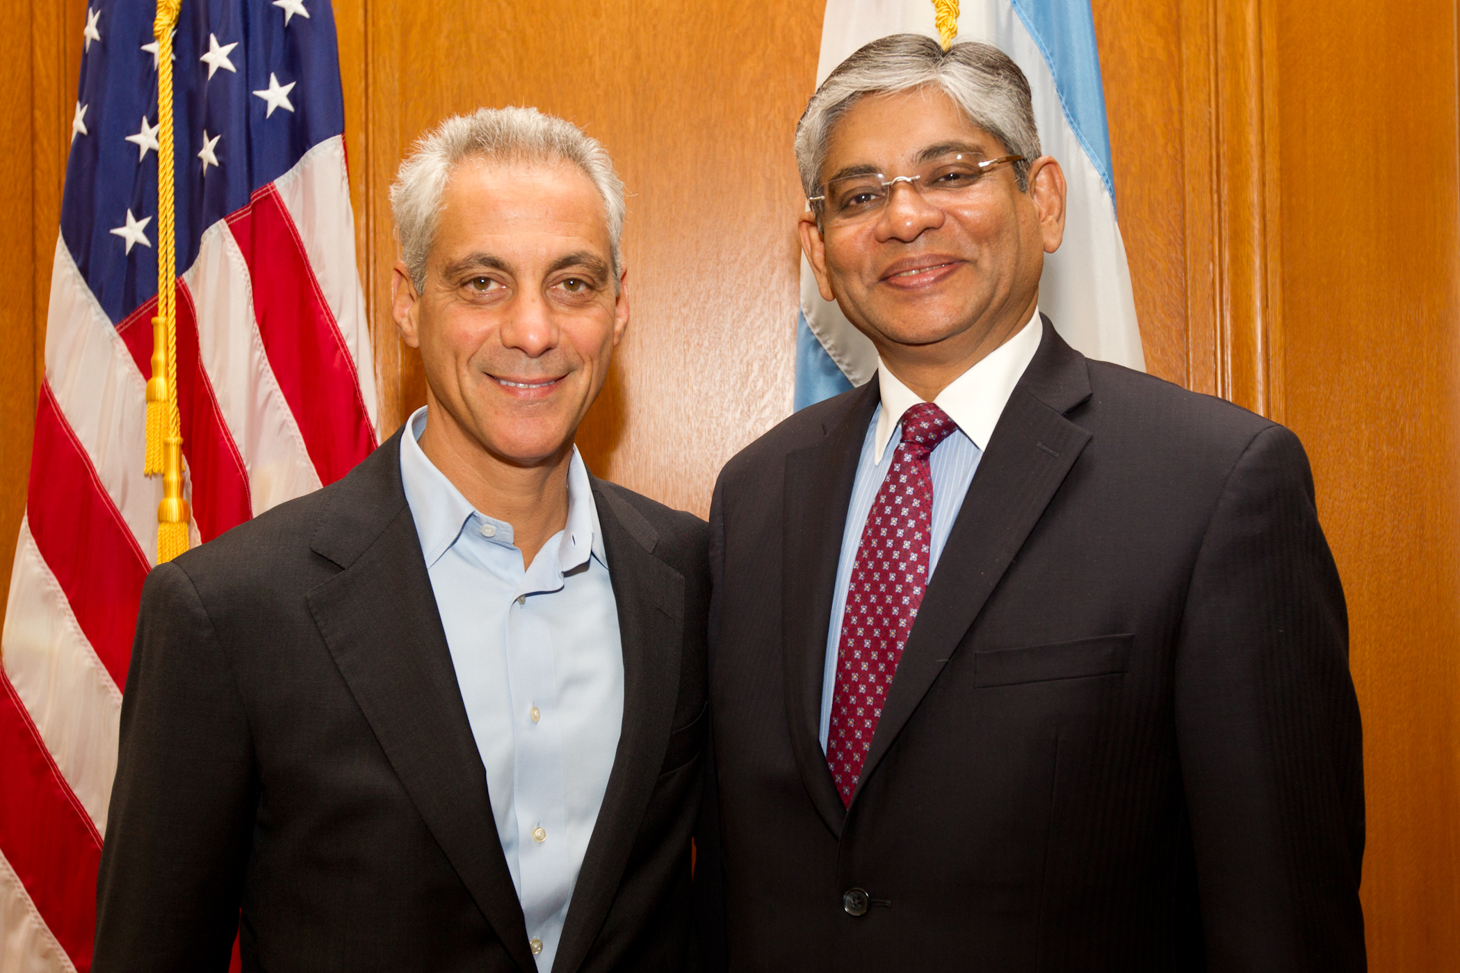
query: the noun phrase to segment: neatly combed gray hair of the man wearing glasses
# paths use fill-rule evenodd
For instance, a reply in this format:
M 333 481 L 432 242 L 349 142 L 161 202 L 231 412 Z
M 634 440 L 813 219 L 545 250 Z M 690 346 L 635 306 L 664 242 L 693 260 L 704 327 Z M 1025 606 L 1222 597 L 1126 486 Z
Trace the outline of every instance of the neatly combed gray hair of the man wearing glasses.
M 965 41 L 946 51 L 921 34 L 894 34 L 866 44 L 837 66 L 796 125 L 796 166 L 806 195 L 821 195 L 826 143 L 842 115 L 867 95 L 936 88 L 953 99 L 968 121 L 1023 156 L 1013 163 L 1021 191 L 1029 190 L 1029 163 L 1040 158 L 1029 80 L 1007 54 Z

